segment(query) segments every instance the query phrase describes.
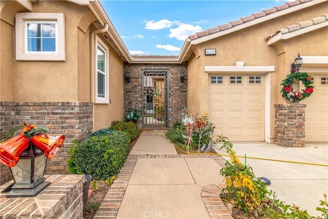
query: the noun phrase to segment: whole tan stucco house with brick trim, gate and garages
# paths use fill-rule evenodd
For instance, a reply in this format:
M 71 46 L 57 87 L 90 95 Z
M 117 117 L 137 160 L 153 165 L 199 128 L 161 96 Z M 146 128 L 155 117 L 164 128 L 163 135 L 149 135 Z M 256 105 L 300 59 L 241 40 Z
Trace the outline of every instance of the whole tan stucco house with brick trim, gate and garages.
M 195 33 L 179 55 L 132 56 L 98 0 L 1 1 L 1 128 L 23 121 L 65 134 L 49 174 L 67 173 L 74 139 L 133 108 L 142 129 L 172 126 L 187 106 L 208 113 L 215 134 L 230 141 L 274 143 L 277 109 L 286 105 L 280 84 L 300 53 L 315 84 L 299 105 L 300 132 L 328 142 L 327 2 L 289 2 Z M 1 177 L 8 174 L 2 166 Z

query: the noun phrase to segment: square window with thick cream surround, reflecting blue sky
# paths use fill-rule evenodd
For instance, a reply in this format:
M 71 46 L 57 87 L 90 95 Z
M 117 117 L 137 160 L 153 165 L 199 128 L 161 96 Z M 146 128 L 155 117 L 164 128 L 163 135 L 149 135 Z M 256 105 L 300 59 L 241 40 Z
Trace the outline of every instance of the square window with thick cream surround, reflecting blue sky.
M 16 60 L 65 61 L 63 13 L 16 14 Z

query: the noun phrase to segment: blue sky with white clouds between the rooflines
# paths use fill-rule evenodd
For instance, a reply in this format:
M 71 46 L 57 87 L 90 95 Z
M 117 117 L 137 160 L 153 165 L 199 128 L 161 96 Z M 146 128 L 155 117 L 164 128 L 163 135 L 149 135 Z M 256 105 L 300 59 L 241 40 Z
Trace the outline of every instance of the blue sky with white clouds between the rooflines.
M 286 2 L 100 0 L 131 55 L 178 55 L 189 35 Z

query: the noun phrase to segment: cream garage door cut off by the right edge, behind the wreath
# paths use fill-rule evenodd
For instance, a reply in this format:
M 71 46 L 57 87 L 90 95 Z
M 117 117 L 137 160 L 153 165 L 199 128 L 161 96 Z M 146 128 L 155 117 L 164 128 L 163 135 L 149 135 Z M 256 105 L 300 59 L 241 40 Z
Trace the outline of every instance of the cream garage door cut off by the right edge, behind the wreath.
M 328 74 L 311 75 L 314 92 L 301 104 L 305 108 L 305 142 L 328 142 Z

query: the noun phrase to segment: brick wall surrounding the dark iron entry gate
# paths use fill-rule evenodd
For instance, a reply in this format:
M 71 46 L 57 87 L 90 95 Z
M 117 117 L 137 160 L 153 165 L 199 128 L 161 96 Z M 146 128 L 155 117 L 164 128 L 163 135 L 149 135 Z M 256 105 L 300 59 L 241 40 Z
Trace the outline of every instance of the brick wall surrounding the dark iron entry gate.
M 124 72 L 130 72 L 130 83 L 124 82 L 124 110 L 142 106 L 142 70 L 168 69 L 169 70 L 169 126 L 177 121 L 181 109 L 187 107 L 187 63 L 182 64 L 127 64 Z M 185 72 L 184 82 L 180 82 L 180 72 Z M 141 128 L 141 120 L 138 127 Z

